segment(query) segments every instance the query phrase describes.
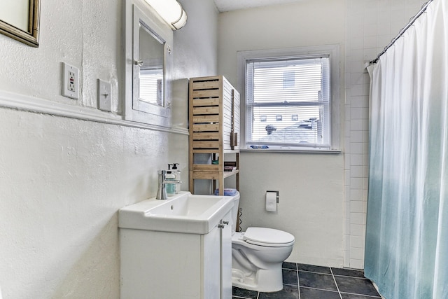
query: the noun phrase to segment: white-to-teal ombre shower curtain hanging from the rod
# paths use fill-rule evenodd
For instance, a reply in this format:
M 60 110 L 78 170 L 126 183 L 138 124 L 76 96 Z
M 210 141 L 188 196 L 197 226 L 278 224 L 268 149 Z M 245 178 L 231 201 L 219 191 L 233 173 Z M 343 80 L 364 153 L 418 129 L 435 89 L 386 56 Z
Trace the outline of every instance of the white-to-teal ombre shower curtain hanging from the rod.
M 386 299 L 447 299 L 448 0 L 369 73 L 365 276 Z

